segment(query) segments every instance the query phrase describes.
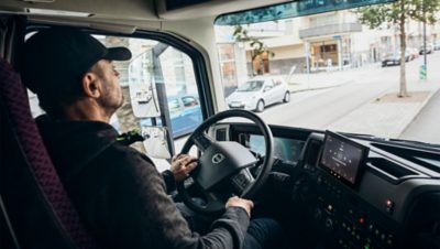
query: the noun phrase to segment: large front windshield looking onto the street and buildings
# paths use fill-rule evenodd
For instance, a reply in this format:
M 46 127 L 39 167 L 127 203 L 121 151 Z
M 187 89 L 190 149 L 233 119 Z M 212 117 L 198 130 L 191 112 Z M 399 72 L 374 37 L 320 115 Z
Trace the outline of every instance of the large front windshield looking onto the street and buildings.
M 405 6 L 404 26 L 386 15 L 398 3 L 307 15 L 298 11 L 317 1 L 300 2 L 302 9 L 288 3 L 216 20 L 227 108 L 255 111 L 272 124 L 440 144 L 440 46 L 429 45 L 440 42 L 438 7 L 427 13 L 435 21 L 427 19 L 424 35 L 422 17 L 409 11 L 416 1 Z M 287 87 L 274 85 L 240 105 L 229 98 L 257 89 L 240 85 L 256 76 L 279 76 Z

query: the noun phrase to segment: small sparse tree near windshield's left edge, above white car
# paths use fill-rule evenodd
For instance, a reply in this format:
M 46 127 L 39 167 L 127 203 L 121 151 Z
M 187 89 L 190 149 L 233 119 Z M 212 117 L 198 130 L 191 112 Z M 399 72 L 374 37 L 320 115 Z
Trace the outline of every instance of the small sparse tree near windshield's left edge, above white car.
M 252 74 L 260 74 L 260 62 L 261 59 L 265 59 L 268 56 L 275 56 L 275 53 L 270 51 L 266 45 L 262 41 L 256 37 L 249 36 L 248 30 L 244 29 L 242 25 L 235 25 L 233 36 L 235 42 L 249 42 L 251 46 L 251 59 L 252 59 Z M 255 68 L 254 65 L 258 65 Z M 255 72 L 256 71 L 256 72 Z

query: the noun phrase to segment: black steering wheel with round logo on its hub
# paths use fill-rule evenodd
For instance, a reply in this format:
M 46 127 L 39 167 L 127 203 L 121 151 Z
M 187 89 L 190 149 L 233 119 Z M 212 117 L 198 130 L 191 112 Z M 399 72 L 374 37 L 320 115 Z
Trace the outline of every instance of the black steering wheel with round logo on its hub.
M 248 148 L 233 141 L 215 141 L 205 132 L 218 121 L 235 117 L 253 121 L 264 136 L 265 156 L 255 177 L 249 169 L 255 166 L 258 159 Z M 227 197 L 232 196 L 233 193 L 220 194 L 219 190 L 231 190 L 244 198 L 254 197 L 272 170 L 274 138 L 268 126 L 251 111 L 232 109 L 210 117 L 193 132 L 180 153 L 187 154 L 193 145 L 200 150 L 201 155 L 190 177 L 204 195 L 206 203 L 200 204 L 191 198 L 186 188 L 186 181 L 177 184 L 177 191 L 184 203 L 198 213 L 215 214 L 224 209 Z

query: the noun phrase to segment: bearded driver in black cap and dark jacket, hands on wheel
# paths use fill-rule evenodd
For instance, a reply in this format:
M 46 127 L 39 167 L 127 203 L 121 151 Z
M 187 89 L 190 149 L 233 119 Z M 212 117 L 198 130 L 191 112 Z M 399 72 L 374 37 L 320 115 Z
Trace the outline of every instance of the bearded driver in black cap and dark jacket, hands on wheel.
M 270 219 L 250 223 L 253 203 L 232 197 L 199 236 L 167 195 L 196 167 L 176 156 L 160 174 L 144 154 L 116 141 L 110 117 L 122 105 L 112 61 L 131 58 L 75 29 L 38 31 L 24 45 L 22 78 L 46 111 L 36 119 L 45 145 L 86 227 L 102 248 L 258 248 L 276 237 Z M 252 234 L 253 230 L 253 234 Z M 272 230 L 272 231 L 270 231 Z

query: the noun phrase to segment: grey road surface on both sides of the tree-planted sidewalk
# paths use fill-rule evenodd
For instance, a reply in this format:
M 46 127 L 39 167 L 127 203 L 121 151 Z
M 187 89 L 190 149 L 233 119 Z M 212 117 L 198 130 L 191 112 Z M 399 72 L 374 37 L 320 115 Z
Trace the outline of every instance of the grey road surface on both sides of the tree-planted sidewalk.
M 422 84 L 428 84 L 418 79 L 421 63 L 422 56 L 406 64 L 409 93 L 411 90 L 417 91 L 417 87 Z M 439 65 L 439 52 L 428 55 L 428 68 L 431 68 L 429 71 L 429 84 L 438 85 L 440 83 L 440 74 L 435 71 L 435 65 Z M 346 78 L 345 82 L 346 84 L 331 88 L 293 93 L 290 102 L 267 107 L 264 112 L 258 115 L 268 123 L 328 129 L 332 123 L 365 104 L 372 102 L 387 93 L 396 93 L 399 84 L 399 66 L 381 67 L 380 64 L 376 64 L 367 69 L 360 71 L 358 75 L 350 74 L 350 78 Z M 437 94 L 432 101 L 439 98 L 440 94 Z M 438 105 L 433 106 L 436 105 L 428 102 L 427 108 L 424 108 L 420 112 L 420 117 L 414 117 L 416 121 L 408 126 L 408 129 L 403 133 L 404 138 L 424 141 L 420 137 L 422 133 L 426 138 L 431 138 L 430 142 L 440 143 L 440 138 L 432 141 L 432 136 L 430 136 L 440 133 L 437 129 L 438 122 L 433 123 L 432 119 L 427 118 L 438 116 L 438 110 L 436 110 Z M 364 133 L 369 132 L 364 131 Z

